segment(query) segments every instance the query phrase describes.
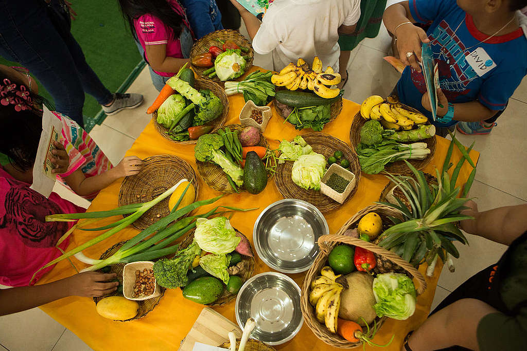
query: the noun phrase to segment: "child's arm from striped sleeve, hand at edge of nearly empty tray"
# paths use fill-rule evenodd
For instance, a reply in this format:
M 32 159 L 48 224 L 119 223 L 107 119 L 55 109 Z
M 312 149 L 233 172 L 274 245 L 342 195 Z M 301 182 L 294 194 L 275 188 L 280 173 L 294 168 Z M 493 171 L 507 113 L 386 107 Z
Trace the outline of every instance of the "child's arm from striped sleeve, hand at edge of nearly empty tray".
M 100 175 L 85 177 L 79 168 L 64 178 L 67 185 L 80 196 L 97 193 L 121 177 L 138 174 L 142 169 L 142 161 L 137 156 L 127 156 L 115 167 Z

